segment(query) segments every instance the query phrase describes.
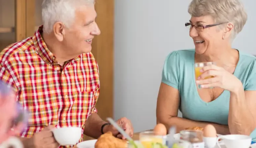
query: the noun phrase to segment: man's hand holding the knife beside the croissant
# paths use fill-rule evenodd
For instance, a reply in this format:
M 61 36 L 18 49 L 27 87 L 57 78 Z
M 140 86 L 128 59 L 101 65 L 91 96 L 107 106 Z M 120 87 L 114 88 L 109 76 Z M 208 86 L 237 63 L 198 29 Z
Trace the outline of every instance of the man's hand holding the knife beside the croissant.
M 124 131 L 129 135 L 129 136 L 133 136 L 133 127 L 132 124 L 130 122 L 130 120 L 128 120 L 126 117 L 123 117 L 119 120 L 117 120 L 117 124 L 124 129 Z M 104 129 L 103 129 L 104 130 Z M 106 130 L 104 130 L 106 132 L 110 131 L 112 132 L 113 136 L 116 136 L 118 138 L 122 138 L 125 139 L 125 137 L 123 135 L 121 135 L 118 130 L 116 128 L 114 128 L 112 125 L 106 126 Z M 104 132 L 104 133 L 106 133 Z

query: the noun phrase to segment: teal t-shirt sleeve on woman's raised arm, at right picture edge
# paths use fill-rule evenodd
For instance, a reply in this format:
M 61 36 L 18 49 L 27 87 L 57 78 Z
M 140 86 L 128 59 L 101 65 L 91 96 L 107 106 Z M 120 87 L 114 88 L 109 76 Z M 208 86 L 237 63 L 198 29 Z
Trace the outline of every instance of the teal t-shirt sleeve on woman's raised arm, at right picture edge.
M 248 76 L 244 90 L 256 90 L 256 60 L 248 67 Z

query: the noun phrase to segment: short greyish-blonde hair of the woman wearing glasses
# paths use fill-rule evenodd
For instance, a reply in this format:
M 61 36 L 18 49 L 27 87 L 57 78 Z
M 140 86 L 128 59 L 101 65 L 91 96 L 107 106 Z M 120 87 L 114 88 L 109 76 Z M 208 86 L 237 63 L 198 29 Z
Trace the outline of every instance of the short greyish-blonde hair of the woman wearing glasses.
M 232 39 L 247 21 L 247 13 L 240 0 L 192 0 L 188 12 L 191 16 L 210 15 L 216 23 L 232 22 L 234 24 Z

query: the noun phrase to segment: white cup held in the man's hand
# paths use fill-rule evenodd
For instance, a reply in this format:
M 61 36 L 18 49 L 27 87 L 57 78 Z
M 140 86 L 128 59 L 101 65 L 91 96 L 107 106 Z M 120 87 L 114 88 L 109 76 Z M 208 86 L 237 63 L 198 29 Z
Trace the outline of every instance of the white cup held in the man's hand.
M 82 129 L 79 127 L 62 127 L 52 130 L 56 141 L 61 145 L 75 145 L 82 137 Z

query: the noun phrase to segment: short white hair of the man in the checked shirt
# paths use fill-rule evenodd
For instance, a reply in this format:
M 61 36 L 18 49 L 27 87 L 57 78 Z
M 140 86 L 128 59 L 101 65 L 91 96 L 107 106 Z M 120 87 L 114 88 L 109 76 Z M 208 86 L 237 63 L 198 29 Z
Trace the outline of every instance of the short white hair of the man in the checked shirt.
M 69 27 L 75 19 L 77 7 L 83 5 L 94 5 L 95 0 L 44 0 L 42 3 L 42 19 L 44 32 L 53 31 L 57 21 Z

